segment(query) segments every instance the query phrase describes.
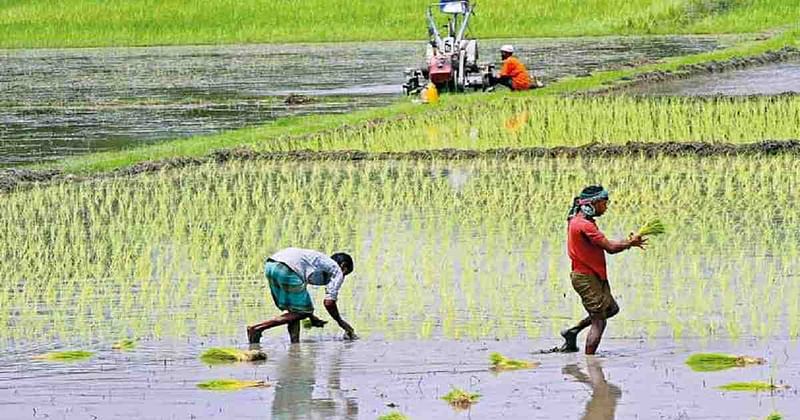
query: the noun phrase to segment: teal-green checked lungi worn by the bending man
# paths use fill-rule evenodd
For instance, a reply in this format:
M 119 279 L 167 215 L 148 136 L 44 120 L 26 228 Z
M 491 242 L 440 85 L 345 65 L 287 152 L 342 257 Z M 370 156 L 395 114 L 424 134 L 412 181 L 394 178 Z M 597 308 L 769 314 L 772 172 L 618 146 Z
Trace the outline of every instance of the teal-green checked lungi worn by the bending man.
M 264 274 L 269 281 L 269 290 L 275 306 L 289 312 L 314 312 L 314 304 L 306 290 L 306 282 L 286 264 L 267 261 Z

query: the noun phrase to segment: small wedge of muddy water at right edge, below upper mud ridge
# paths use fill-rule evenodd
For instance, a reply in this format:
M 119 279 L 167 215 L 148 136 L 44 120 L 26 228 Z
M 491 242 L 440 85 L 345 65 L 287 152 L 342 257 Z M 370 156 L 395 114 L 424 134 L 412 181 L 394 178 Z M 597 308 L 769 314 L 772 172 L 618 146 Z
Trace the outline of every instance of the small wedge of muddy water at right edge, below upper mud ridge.
M 644 95 L 740 96 L 800 93 L 800 62 L 707 74 L 631 90 Z

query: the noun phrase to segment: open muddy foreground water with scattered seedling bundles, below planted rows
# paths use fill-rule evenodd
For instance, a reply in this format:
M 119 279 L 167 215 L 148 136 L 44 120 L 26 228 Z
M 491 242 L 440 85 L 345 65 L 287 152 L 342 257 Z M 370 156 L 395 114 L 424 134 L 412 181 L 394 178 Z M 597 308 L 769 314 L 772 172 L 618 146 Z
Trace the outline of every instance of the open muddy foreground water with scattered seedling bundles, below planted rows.
M 613 325 L 613 324 L 612 324 Z M 612 326 L 613 328 L 613 326 Z M 606 340 L 597 357 L 536 355 L 554 341 L 331 340 L 289 345 L 265 339 L 261 364 L 207 367 L 193 355 L 209 343 L 150 342 L 130 354 L 101 352 L 93 362 L 53 366 L 27 354 L 0 356 L 0 417 L 137 419 L 375 419 L 398 410 L 412 419 L 730 419 L 800 415 L 797 389 L 723 392 L 734 381 L 770 377 L 800 383 L 796 342 Z M 241 345 L 241 341 L 239 341 Z M 692 372 L 697 349 L 753 354 L 772 366 Z M 492 373 L 490 352 L 541 362 L 533 370 Z M 265 380 L 268 388 L 209 392 L 216 378 Z M 481 394 L 469 410 L 440 398 L 451 387 Z

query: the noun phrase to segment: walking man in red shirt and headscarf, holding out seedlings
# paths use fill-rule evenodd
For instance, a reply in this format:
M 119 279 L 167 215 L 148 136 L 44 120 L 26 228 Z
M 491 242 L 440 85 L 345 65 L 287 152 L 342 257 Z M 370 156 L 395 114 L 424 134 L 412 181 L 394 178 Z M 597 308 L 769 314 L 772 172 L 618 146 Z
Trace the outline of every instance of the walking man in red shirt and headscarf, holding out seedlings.
M 586 337 L 586 354 L 597 352 L 606 320 L 619 312 L 606 275 L 606 252 L 616 254 L 633 247 L 644 249 L 647 242 L 633 234 L 619 241 L 606 239 L 594 219 L 602 216 L 607 208 L 608 191 L 600 185 L 592 185 L 575 197 L 567 217 L 567 251 L 572 260 L 572 288 L 578 292 L 589 316 L 578 325 L 561 332 L 565 340 L 560 349 L 563 352 L 578 351 L 578 334 L 590 325 L 592 328 Z

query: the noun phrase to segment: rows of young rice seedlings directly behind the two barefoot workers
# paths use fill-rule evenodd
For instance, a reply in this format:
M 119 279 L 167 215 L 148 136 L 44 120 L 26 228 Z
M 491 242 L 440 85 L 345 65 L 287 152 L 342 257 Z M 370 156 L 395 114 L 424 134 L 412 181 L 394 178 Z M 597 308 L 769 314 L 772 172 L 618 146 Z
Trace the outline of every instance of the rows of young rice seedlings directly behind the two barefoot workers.
M 285 246 L 354 255 L 340 305 L 362 335 L 551 336 L 583 314 L 565 217 L 596 182 L 611 236 L 670 226 L 610 257 L 612 336 L 800 334 L 783 156 L 242 163 L 20 191 L 0 201 L 0 340 L 244 340 L 277 313 L 262 264 Z

